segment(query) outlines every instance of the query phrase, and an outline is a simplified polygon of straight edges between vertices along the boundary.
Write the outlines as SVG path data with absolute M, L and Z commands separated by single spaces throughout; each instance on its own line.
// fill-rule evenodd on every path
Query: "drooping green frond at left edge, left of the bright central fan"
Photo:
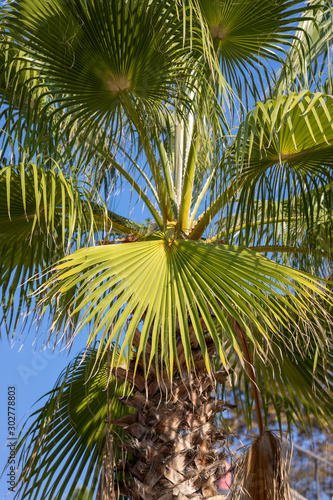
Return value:
M 106 212 L 98 197 L 91 202 L 87 187 L 58 167 L 22 163 L 0 170 L 0 288 L 8 334 L 33 306 L 30 294 L 54 259 L 105 229 Z M 29 279 L 40 272 L 36 282 Z

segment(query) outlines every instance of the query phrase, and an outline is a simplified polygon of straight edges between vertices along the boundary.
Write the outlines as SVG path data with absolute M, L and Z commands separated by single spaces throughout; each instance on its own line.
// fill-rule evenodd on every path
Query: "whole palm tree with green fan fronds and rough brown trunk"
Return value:
M 289 498 L 269 405 L 333 414 L 331 25 L 329 1 L 3 7 L 3 325 L 91 328 L 22 438 L 24 498 L 216 496 L 235 370 L 259 427 L 235 495 Z M 119 182 L 149 219 L 111 211 Z

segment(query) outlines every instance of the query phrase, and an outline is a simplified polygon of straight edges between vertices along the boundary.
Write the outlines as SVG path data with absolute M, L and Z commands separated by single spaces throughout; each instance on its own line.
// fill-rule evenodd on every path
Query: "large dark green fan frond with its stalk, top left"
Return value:
M 43 137 L 40 129 L 55 130 L 53 144 L 47 142 L 48 154 L 59 154 L 61 144 L 67 161 L 64 153 L 68 158 L 82 149 L 89 151 L 90 159 L 96 143 L 105 147 L 106 137 L 112 138 L 110 150 L 126 135 L 127 150 L 132 151 L 139 136 L 163 219 L 172 220 L 146 121 L 149 117 L 149 123 L 164 122 L 161 111 L 169 112 L 170 106 L 184 113 L 191 106 L 191 91 L 206 90 L 200 26 L 181 14 L 174 0 L 52 0 L 47 7 L 43 1 L 25 0 L 11 7 L 7 24 L 14 47 L 25 51 L 39 75 L 30 94 L 43 82 L 29 114 L 25 144 L 43 153 L 45 142 L 36 143 L 35 137 Z M 188 29 L 192 36 L 184 39 Z M 204 87 L 198 83 L 202 76 Z M 10 118 L 12 114 L 9 109 Z M 19 129 L 15 133 L 19 137 Z

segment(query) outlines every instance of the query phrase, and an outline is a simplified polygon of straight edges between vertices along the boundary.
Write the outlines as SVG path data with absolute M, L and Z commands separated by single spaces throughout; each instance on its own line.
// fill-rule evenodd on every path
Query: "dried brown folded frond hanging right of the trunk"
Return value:
M 265 431 L 239 459 L 234 476 L 236 500 L 291 500 L 288 460 L 280 440 Z

